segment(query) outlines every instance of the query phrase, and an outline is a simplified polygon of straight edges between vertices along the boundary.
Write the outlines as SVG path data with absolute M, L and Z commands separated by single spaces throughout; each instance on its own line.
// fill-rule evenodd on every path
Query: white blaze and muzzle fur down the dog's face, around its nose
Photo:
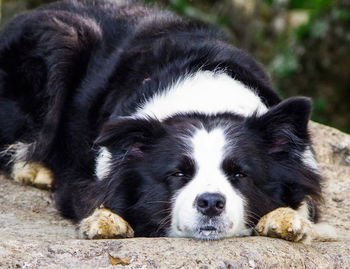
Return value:
M 174 197 L 169 235 L 201 239 L 248 235 L 250 230 L 244 223 L 244 200 L 221 168 L 227 145 L 224 130 L 214 129 L 208 133 L 200 129 L 192 137 L 192 145 L 197 172 Z M 220 193 L 226 198 L 225 210 L 216 217 L 215 223 L 201 223 L 202 214 L 196 209 L 196 197 L 206 192 Z M 201 226 L 215 224 L 221 233 L 211 235 L 209 231 L 200 232 Z

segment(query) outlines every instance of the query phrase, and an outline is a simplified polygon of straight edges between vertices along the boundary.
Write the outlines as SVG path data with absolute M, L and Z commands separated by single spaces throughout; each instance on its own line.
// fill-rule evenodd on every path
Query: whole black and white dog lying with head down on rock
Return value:
M 132 2 L 58 2 L 0 35 L 2 168 L 52 188 L 86 238 L 221 239 L 260 220 L 309 240 L 310 111 L 221 32 Z

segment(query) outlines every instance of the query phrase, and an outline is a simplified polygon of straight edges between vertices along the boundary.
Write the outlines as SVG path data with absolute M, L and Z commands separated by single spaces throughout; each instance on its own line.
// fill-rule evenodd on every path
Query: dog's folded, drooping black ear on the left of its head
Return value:
M 155 119 L 119 119 L 103 126 L 95 144 L 140 156 L 147 146 L 165 134 L 165 128 Z

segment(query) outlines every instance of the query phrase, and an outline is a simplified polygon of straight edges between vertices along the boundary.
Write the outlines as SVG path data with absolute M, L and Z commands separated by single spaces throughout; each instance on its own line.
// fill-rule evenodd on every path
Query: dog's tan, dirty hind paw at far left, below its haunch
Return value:
M 53 184 L 52 172 L 38 163 L 16 162 L 11 175 L 17 182 L 41 189 L 51 189 Z

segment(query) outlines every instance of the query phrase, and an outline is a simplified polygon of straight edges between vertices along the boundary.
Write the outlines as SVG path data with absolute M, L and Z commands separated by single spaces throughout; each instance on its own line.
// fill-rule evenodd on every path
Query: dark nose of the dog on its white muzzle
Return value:
M 208 217 L 220 215 L 225 209 L 226 199 L 220 193 L 203 193 L 196 199 L 196 207 L 199 212 Z

